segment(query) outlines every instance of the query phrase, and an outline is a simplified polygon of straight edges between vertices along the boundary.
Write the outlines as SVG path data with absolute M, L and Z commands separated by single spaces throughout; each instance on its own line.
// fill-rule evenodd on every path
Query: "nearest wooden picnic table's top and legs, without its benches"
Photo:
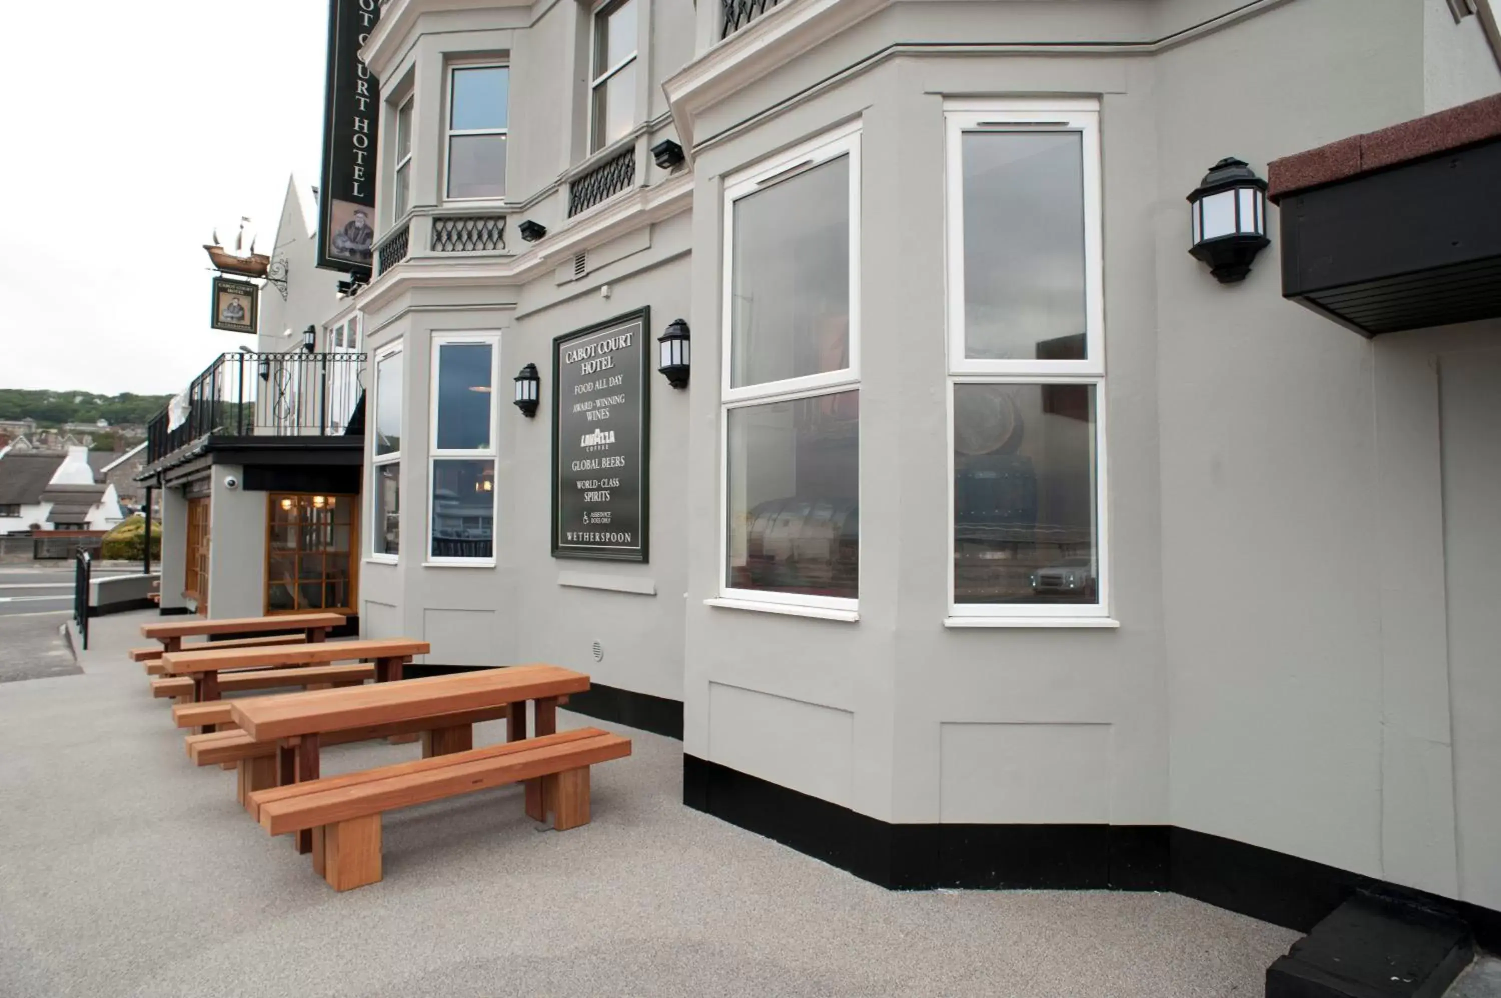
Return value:
M 281 693 L 234 701 L 231 716 L 257 741 L 276 741 L 279 786 L 318 779 L 318 738 L 323 734 L 398 722 L 414 722 L 455 711 L 509 705 L 507 741 L 527 737 L 527 701 L 536 701 L 536 734 L 557 731 L 560 696 L 582 693 L 588 675 L 557 665 L 518 665 L 504 669 L 455 672 L 401 683 Z M 432 755 L 474 747 L 474 726 L 434 728 Z M 527 794 L 540 786 L 527 783 Z M 312 836 L 299 833 L 297 849 L 312 848 Z

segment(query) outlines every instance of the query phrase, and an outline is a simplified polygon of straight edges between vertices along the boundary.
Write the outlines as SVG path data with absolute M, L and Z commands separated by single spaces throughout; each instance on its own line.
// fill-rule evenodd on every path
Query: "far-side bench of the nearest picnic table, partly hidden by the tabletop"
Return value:
M 224 704 L 221 701 L 221 704 Z M 179 710 L 203 710 L 221 704 L 191 704 Z M 228 707 L 228 704 L 224 704 Z M 474 747 L 473 725 L 486 720 L 501 720 L 510 713 L 510 705 L 491 707 L 486 710 L 464 710 L 450 714 L 438 714 L 422 720 L 404 720 L 384 725 L 366 725 L 363 728 L 348 728 L 332 731 L 324 738 L 324 744 L 347 744 L 350 741 L 374 741 L 375 738 L 399 738 L 402 735 L 422 737 L 422 758 L 449 752 L 464 752 Z M 203 722 L 212 723 L 212 722 Z M 233 723 L 233 722 L 231 722 Z M 455 737 L 455 732 L 462 732 Z M 468 734 L 468 737 L 462 737 Z M 183 738 L 188 758 L 195 765 L 231 765 L 239 770 L 236 800 L 248 804 L 246 795 L 251 791 L 276 786 L 276 741 L 257 741 L 252 735 L 239 728 L 188 735 Z

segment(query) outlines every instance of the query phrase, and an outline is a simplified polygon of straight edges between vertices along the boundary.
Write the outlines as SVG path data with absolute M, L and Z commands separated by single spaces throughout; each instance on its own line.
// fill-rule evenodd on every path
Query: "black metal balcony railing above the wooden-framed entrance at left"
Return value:
M 221 354 L 146 429 L 147 465 L 210 434 L 341 437 L 365 432 L 365 354 Z

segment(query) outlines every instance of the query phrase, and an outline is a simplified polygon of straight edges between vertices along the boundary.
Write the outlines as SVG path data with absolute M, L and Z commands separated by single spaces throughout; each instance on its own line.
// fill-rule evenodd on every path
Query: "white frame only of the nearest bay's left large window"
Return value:
M 824 374 L 812 374 L 782 381 L 732 389 L 731 381 L 731 317 L 734 309 L 734 218 L 735 201 L 766 191 L 779 182 L 802 176 L 814 167 L 841 156 L 850 158 L 850 366 Z M 823 395 L 860 392 L 860 122 L 796 146 L 772 159 L 741 170 L 725 182 L 723 194 L 723 255 L 720 272 L 720 414 L 719 414 L 719 597 L 707 600 L 714 606 L 769 609 L 835 620 L 857 620 L 860 600 L 839 596 L 808 596 L 803 593 L 773 593 L 743 590 L 728 584 L 729 573 L 729 413 L 769 402 L 794 402 Z M 862 446 L 863 452 L 863 446 Z M 856 501 L 865 488 L 859 476 Z M 860 560 L 865 557 L 865 533 L 859 540 Z M 859 575 L 856 582 L 859 591 Z

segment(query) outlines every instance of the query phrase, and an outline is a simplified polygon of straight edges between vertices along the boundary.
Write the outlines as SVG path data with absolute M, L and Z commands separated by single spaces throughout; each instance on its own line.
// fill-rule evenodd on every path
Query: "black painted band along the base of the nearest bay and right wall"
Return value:
M 1469 923 L 1501 948 L 1501 912 L 1172 825 L 890 824 L 683 755 L 683 803 L 896 890 L 1171 890 L 1300 932 L 1355 891 Z

